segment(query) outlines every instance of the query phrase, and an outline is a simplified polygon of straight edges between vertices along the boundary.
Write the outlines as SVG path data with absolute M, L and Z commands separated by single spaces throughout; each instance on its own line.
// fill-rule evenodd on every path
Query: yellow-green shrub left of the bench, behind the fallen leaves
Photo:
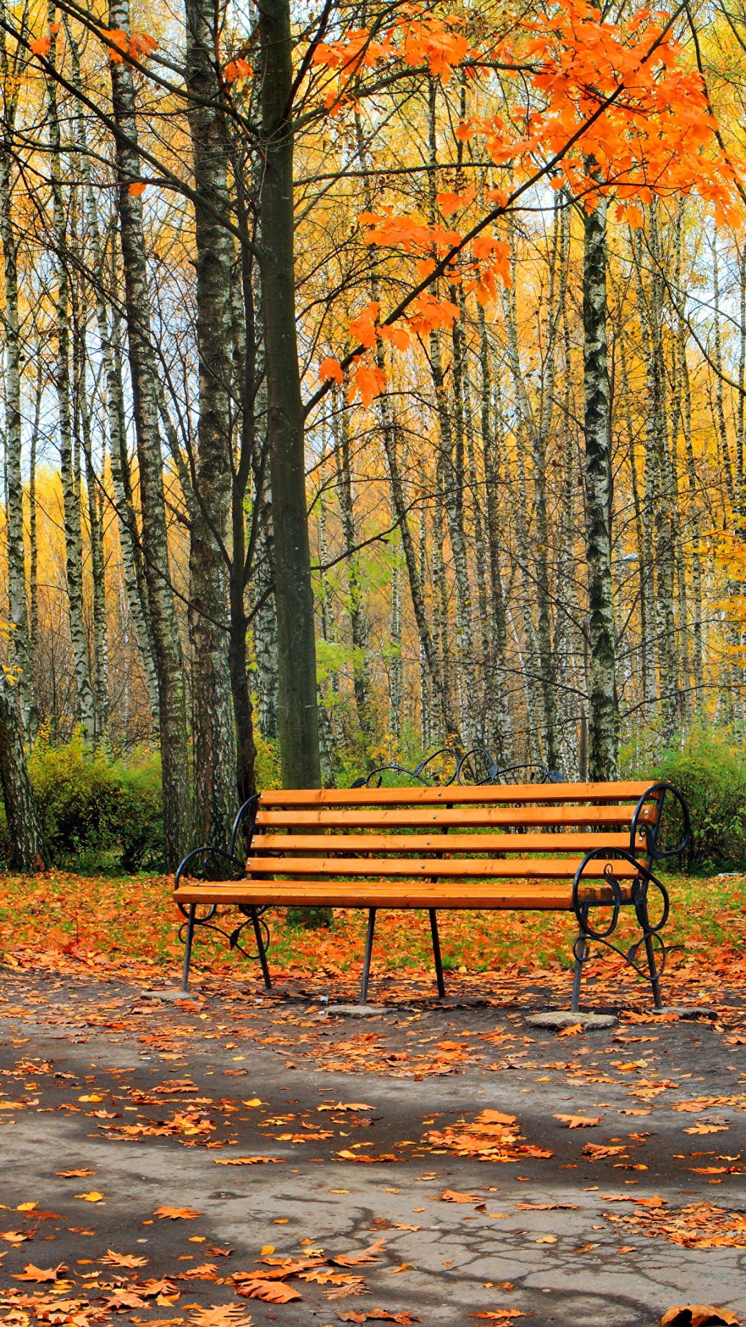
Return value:
M 44 836 L 56 865 L 92 871 L 157 869 L 163 860 L 161 760 L 125 764 L 92 755 L 76 734 L 64 746 L 38 740 L 29 775 Z

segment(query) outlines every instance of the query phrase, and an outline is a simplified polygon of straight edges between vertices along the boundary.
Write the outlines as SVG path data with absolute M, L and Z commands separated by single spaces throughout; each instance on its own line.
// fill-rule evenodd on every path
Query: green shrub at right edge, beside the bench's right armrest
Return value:
M 726 738 L 696 731 L 670 748 L 644 776 L 673 783 L 692 815 L 688 865 L 697 871 L 746 867 L 746 751 Z

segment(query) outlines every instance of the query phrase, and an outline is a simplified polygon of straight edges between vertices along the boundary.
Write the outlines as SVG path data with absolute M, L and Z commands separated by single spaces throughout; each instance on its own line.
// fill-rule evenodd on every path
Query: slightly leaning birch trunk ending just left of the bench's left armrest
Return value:
M 109 27 L 129 32 L 129 0 L 112 0 Z M 137 142 L 135 97 L 131 68 L 112 62 L 114 118 L 130 143 Z M 155 666 L 163 770 L 163 837 L 166 869 L 185 856 L 190 841 L 188 751 L 186 733 L 185 673 L 179 626 L 169 568 L 166 511 L 163 506 L 163 458 L 158 429 L 150 344 L 150 292 L 142 199 L 130 192 L 139 175 L 138 153 L 117 139 L 117 202 L 125 273 L 129 361 L 139 466 L 142 551 Z

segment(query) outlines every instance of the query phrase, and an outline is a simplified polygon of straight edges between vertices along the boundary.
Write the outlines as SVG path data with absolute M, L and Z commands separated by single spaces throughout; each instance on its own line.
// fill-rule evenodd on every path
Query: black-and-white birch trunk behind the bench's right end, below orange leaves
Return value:
M 611 411 L 607 358 L 607 200 L 583 218 L 585 549 L 591 648 L 592 782 L 616 775 L 615 621 L 611 540 Z

